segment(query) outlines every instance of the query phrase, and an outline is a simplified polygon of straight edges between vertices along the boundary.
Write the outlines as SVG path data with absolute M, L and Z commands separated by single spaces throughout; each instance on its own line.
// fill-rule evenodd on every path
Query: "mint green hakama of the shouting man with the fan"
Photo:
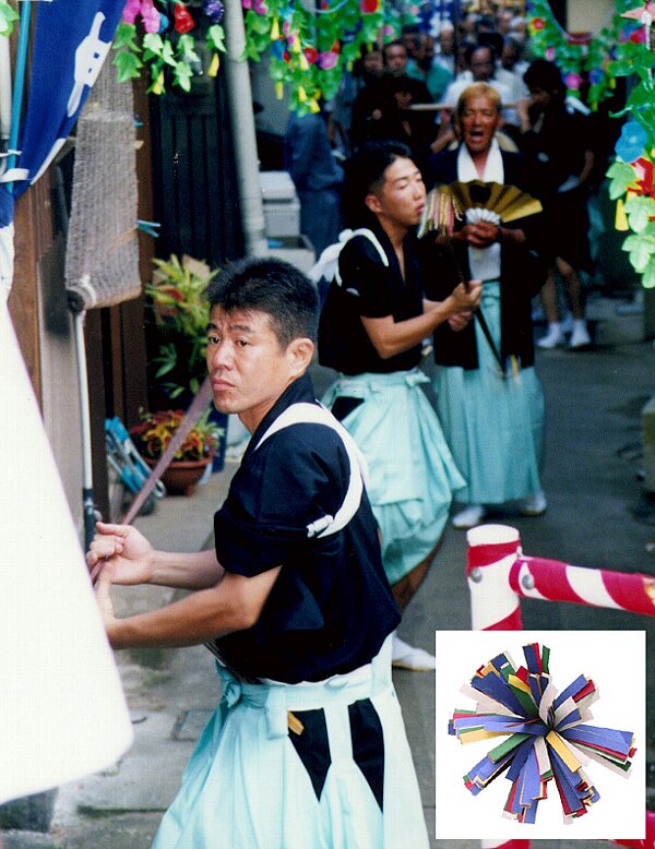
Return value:
M 486 282 L 481 309 L 500 350 L 500 284 Z M 464 504 L 504 504 L 541 490 L 544 394 L 534 368 L 507 375 L 475 323 L 479 368 L 438 367 L 437 410 L 466 487 Z

